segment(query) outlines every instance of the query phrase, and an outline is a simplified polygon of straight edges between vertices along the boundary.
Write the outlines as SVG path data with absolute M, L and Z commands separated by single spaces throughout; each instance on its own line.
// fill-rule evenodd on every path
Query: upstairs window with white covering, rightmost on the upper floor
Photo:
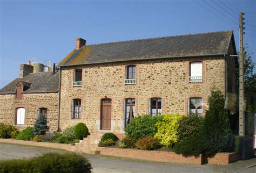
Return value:
M 190 63 L 190 83 L 203 82 L 202 62 Z

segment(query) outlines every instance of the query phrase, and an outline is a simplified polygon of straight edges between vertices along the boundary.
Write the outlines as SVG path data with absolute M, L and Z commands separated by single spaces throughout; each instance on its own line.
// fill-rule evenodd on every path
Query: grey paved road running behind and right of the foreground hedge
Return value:
M 34 148 L 20 145 L 0 143 L 0 160 L 11 158 L 28 158 L 43 153 L 58 152 L 60 150 Z M 117 158 L 85 155 L 93 167 L 93 172 L 234 172 L 256 164 L 256 158 L 247 161 L 238 161 L 229 165 L 184 165 L 156 162 L 143 162 Z M 256 167 L 241 172 L 255 172 Z

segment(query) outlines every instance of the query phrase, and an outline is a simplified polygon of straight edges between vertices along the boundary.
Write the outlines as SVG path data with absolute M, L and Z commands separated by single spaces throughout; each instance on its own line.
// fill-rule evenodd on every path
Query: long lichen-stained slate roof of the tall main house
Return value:
M 233 31 L 179 35 L 142 40 L 86 45 L 73 50 L 58 66 L 107 63 L 165 57 L 227 54 Z

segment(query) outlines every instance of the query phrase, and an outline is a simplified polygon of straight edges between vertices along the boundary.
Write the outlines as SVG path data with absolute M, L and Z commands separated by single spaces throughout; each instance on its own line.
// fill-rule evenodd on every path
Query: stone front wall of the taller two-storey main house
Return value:
M 190 62 L 203 62 L 203 82 L 189 83 Z M 124 85 L 125 66 L 136 65 L 136 85 Z M 73 70 L 82 69 L 82 86 Z M 203 116 L 212 88 L 225 93 L 225 58 L 193 57 L 62 67 L 60 128 L 84 122 L 90 132 L 124 133 L 124 99 L 136 99 L 136 116 L 149 113 L 149 99 L 161 97 L 163 113 L 187 114 L 188 98 L 203 98 Z M 71 119 L 72 99 L 82 99 L 82 117 Z M 100 129 L 100 99 L 111 98 L 111 130 Z

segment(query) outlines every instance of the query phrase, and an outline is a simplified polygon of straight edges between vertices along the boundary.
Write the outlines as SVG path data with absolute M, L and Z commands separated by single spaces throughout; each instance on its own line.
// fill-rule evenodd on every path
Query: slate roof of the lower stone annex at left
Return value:
M 10 82 L 2 89 L 0 89 L 0 94 L 4 93 L 15 93 L 16 85 L 21 81 L 22 83 L 31 83 L 29 89 L 23 91 L 23 93 L 28 92 L 57 92 L 59 89 L 59 71 L 54 75 L 52 72 L 45 73 L 31 73 L 23 78 L 16 78 L 14 81 Z

